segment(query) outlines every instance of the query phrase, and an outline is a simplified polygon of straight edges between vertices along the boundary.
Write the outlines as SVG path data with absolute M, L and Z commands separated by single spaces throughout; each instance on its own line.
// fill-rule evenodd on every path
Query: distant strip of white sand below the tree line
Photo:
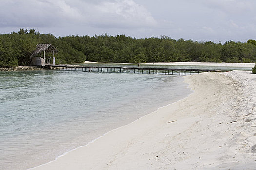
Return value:
M 84 64 L 104 64 L 92 61 L 85 61 Z M 109 63 L 113 64 L 113 63 Z M 114 63 L 116 64 L 116 63 Z M 133 63 L 118 63 L 133 64 Z M 255 63 L 206 63 L 206 62 L 161 62 L 161 63 L 140 63 L 140 65 L 173 65 L 173 66 L 222 66 L 222 67 L 248 67 L 253 68 Z

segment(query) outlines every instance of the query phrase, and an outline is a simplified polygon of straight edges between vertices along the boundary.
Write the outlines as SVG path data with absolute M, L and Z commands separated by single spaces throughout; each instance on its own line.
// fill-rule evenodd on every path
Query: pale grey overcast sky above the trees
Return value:
M 256 39 L 256 0 L 0 0 L 0 34 Z

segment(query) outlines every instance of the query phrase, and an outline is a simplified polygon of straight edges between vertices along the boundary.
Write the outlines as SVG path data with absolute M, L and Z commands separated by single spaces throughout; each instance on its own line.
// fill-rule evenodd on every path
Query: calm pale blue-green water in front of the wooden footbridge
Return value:
M 0 72 L 0 169 L 47 163 L 190 93 L 177 75 Z

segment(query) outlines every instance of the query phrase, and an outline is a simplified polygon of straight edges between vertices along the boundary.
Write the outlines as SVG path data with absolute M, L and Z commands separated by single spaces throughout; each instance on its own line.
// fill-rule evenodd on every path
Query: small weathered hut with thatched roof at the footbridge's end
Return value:
M 38 44 L 37 49 L 30 56 L 32 66 L 55 65 L 54 54 L 57 52 L 58 50 L 51 44 Z

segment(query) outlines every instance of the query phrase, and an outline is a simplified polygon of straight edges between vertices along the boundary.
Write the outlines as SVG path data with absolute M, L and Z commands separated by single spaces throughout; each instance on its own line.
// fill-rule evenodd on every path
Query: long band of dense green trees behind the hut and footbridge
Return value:
M 168 36 L 132 38 L 125 35 L 65 36 L 40 34 L 35 29 L 0 34 L 0 67 L 30 65 L 37 44 L 52 44 L 57 64 L 95 62 L 256 62 L 256 40 L 247 42 L 193 41 Z

